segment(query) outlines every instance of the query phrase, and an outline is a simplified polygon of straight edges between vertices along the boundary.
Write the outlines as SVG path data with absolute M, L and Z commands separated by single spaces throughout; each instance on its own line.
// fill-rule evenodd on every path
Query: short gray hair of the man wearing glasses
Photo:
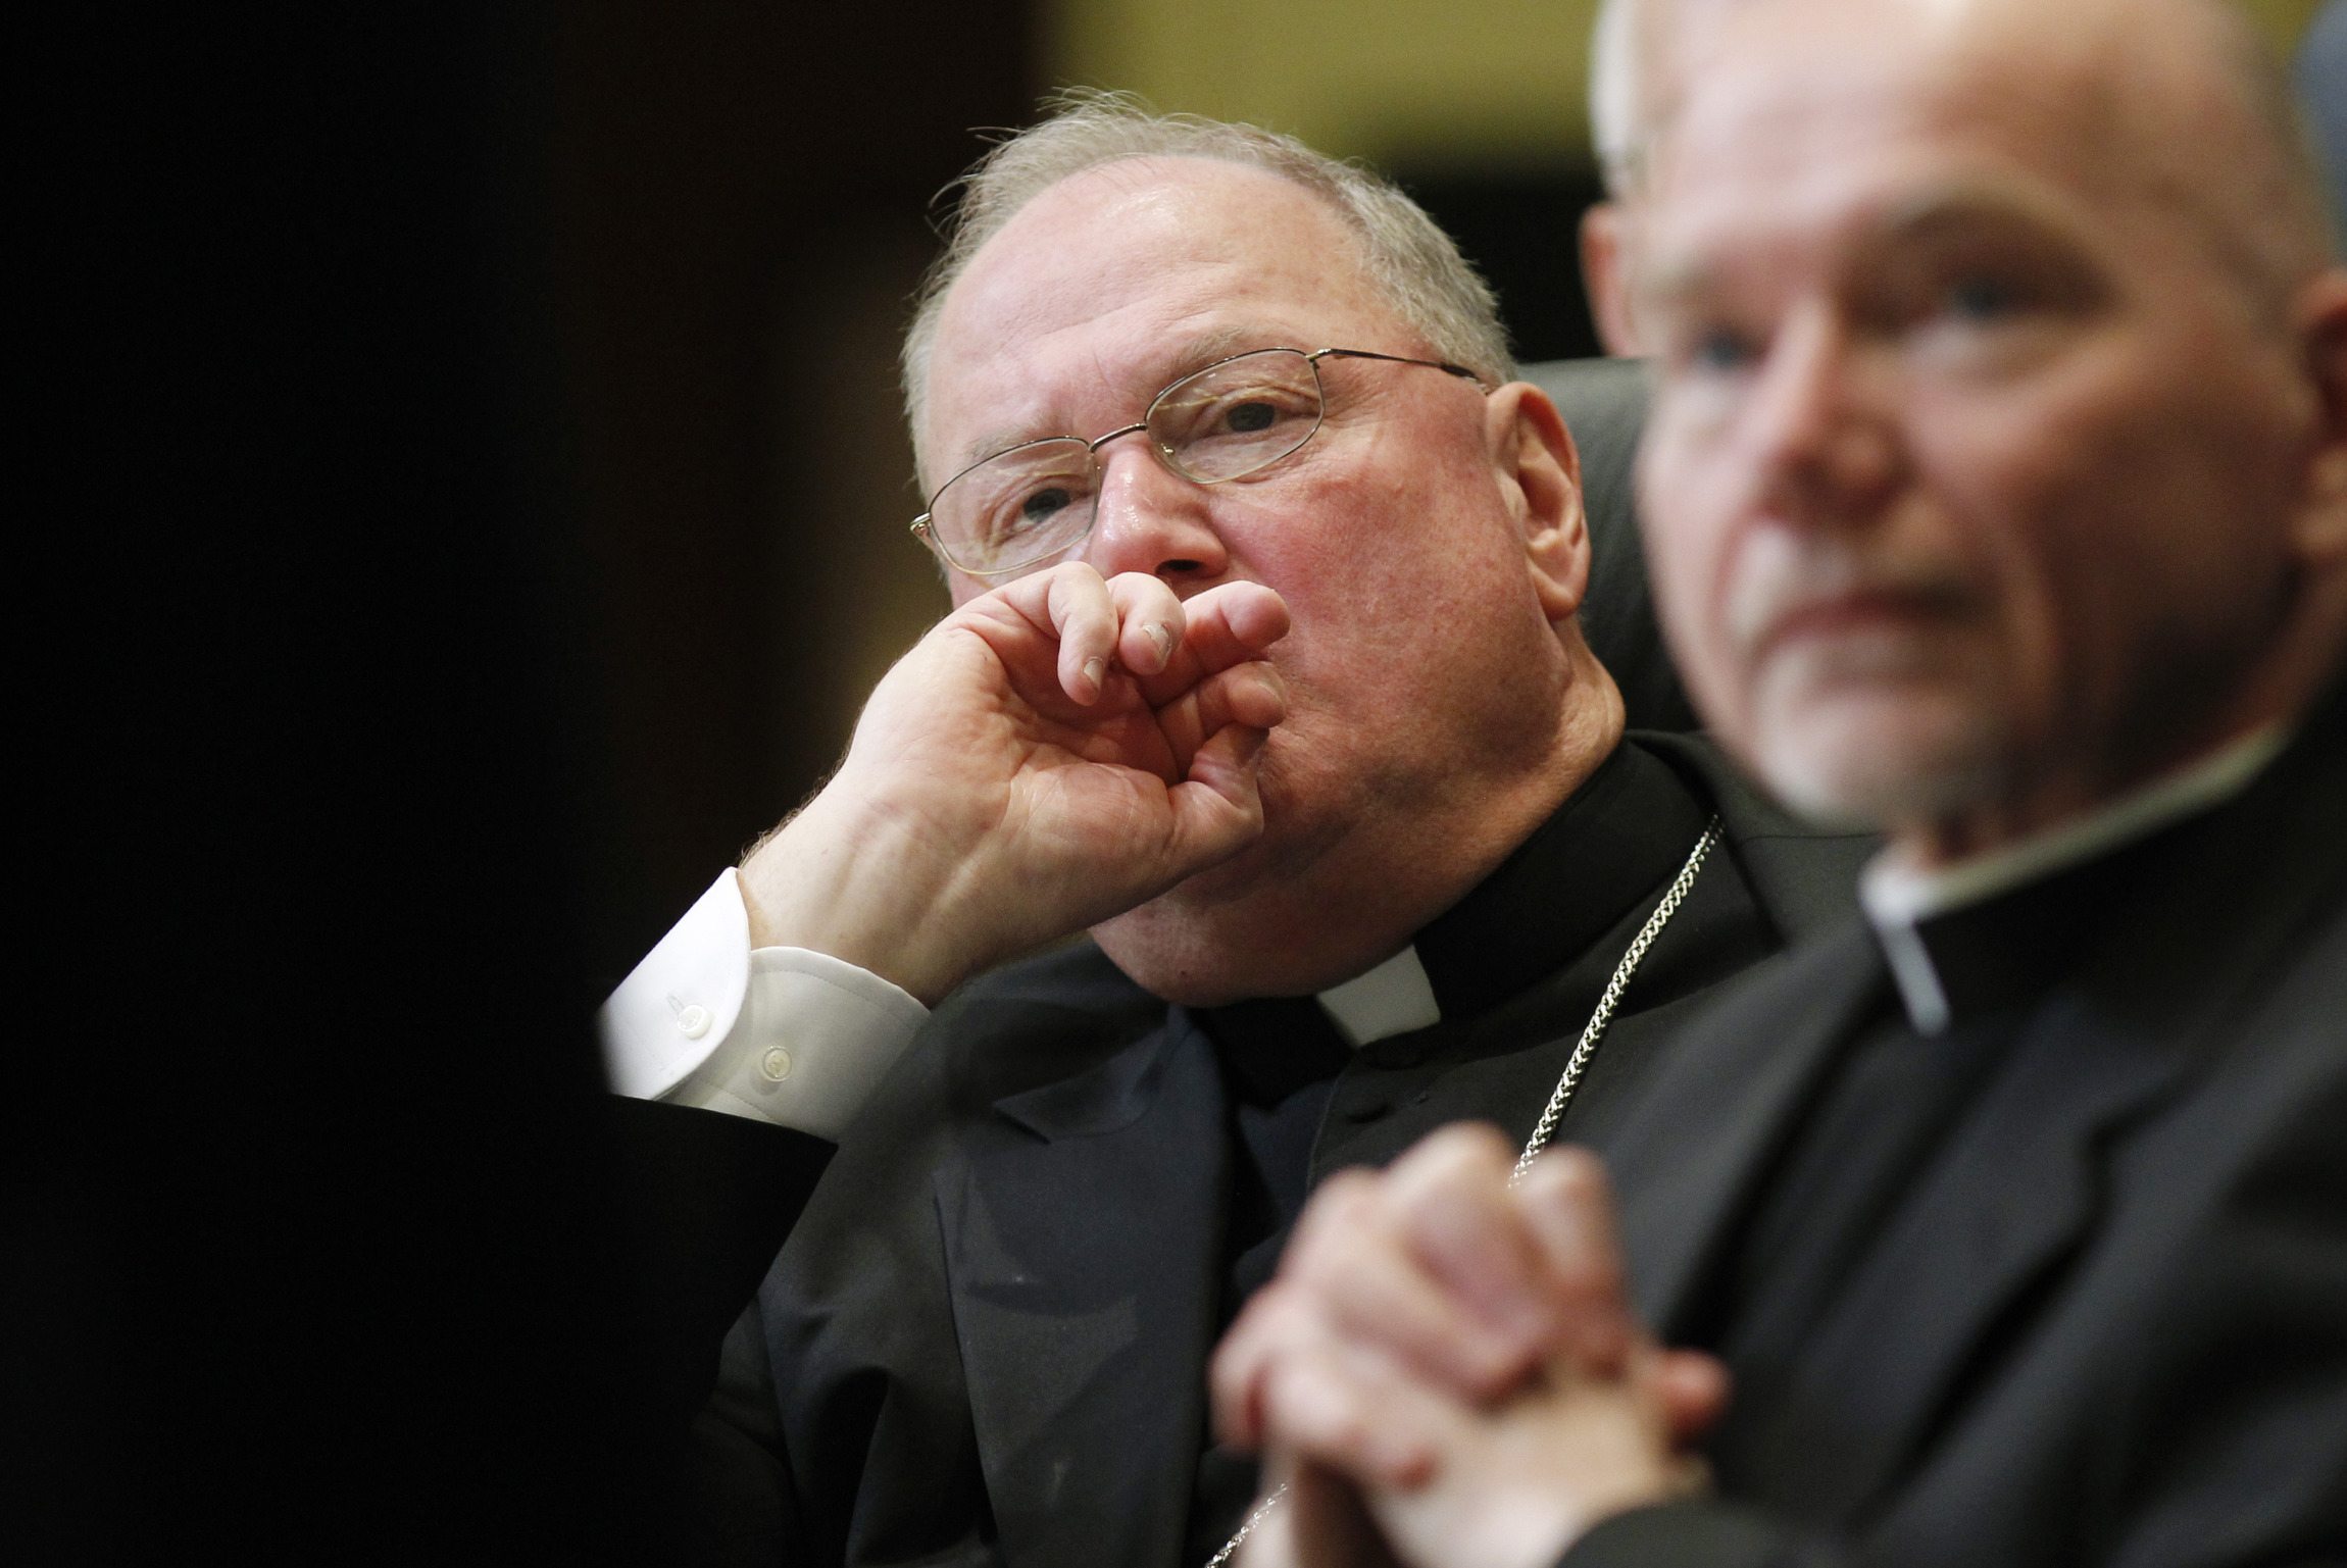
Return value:
M 1467 366 L 1493 387 L 1514 380 L 1516 364 L 1490 286 L 1460 256 L 1450 235 L 1392 181 L 1253 124 L 1152 113 L 1134 94 L 1075 89 L 1058 94 L 1051 110 L 1049 120 L 1002 141 L 960 178 L 962 200 L 946 254 L 929 268 L 904 338 L 904 406 L 915 448 L 922 439 L 936 322 L 972 256 L 1051 185 L 1129 157 L 1211 157 L 1303 185 L 1335 209 L 1359 242 L 1359 263 L 1371 286 L 1436 357 Z

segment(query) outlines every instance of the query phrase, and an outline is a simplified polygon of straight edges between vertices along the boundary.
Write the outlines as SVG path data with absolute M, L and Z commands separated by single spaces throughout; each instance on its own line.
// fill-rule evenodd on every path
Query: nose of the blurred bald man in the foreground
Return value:
M 1892 371 L 1831 307 L 1795 312 L 1770 345 L 1749 437 L 1763 505 L 1805 528 L 1864 528 L 1899 491 Z

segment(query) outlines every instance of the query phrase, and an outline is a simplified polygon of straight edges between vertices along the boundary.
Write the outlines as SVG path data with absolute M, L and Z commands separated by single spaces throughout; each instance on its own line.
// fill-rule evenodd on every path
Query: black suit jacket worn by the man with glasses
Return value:
M 1720 812 L 1725 843 L 1563 1136 L 1601 1122 L 1720 981 L 1845 913 L 1871 847 L 1793 824 L 1702 742 L 1636 744 Z M 1314 1181 L 1460 1117 L 1523 1138 L 1659 892 L 1523 995 L 1364 1047 Z M 1197 1019 L 1089 944 L 939 1007 L 728 1343 L 704 1427 L 730 1455 L 718 1502 L 782 1521 L 744 1526 L 744 1556 L 1174 1568 L 1220 1322 L 1227 1117 Z

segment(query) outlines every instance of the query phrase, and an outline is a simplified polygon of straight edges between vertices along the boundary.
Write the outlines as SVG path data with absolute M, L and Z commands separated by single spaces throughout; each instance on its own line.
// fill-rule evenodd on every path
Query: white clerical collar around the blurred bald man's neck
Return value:
M 2267 725 L 2084 817 L 1953 866 L 1922 869 L 1896 847 L 1871 859 L 1859 876 L 1859 904 L 1882 941 L 1915 1033 L 1936 1035 L 1948 1028 L 1948 995 L 1915 932 L 1920 920 L 1983 904 L 2230 800 L 2265 772 L 2288 739 L 2286 725 Z

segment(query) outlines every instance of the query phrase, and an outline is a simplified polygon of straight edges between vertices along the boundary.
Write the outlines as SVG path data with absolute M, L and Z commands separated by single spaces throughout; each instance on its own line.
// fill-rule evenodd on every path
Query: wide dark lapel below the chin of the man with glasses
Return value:
M 1227 1185 L 1211 1052 L 1169 1023 L 995 1110 L 934 1190 L 1002 1554 L 1171 1568 Z

